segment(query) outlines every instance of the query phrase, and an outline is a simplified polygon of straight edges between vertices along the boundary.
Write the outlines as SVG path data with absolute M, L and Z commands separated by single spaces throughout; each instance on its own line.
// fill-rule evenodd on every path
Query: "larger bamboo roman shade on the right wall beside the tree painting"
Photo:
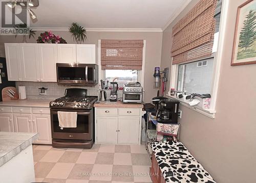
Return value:
M 210 56 L 217 0 L 201 0 L 173 27 L 173 64 Z

